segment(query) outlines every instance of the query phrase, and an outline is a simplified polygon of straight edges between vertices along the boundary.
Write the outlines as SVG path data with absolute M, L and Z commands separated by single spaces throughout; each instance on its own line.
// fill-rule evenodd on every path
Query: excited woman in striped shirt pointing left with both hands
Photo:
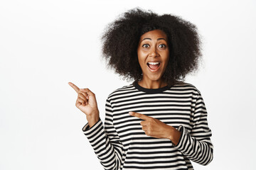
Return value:
M 178 16 L 132 9 L 102 37 L 110 67 L 132 84 L 106 101 L 105 125 L 95 94 L 78 93 L 82 128 L 105 169 L 193 169 L 213 159 L 207 111 L 200 91 L 183 78 L 201 57 L 196 26 Z

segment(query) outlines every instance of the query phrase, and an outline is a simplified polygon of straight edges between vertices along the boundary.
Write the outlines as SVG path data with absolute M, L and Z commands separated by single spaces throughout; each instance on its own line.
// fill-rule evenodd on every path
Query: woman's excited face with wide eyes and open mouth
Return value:
M 151 30 L 141 36 L 137 49 L 144 80 L 159 81 L 169 62 L 167 36 L 162 30 Z

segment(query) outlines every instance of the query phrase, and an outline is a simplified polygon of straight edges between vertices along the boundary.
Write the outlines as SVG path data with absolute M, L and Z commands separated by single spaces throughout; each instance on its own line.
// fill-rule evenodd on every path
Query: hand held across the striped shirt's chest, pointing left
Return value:
M 171 140 L 174 145 L 178 144 L 181 132 L 176 130 L 176 128 L 141 113 L 129 112 L 129 114 L 144 120 L 140 124 L 146 135 L 156 138 L 166 138 Z

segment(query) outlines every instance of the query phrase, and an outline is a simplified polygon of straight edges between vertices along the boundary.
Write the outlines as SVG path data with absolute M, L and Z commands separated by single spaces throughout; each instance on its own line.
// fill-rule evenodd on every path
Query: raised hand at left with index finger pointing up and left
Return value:
M 79 89 L 75 84 L 68 82 L 68 84 L 77 92 L 78 99 L 75 106 L 85 113 L 90 127 L 95 125 L 100 120 L 100 113 L 97 108 L 97 101 L 95 94 L 89 89 Z

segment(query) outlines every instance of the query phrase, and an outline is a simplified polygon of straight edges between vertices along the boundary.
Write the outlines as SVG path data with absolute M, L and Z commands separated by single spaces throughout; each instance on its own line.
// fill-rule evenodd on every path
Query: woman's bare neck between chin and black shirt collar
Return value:
M 143 79 L 141 81 L 138 81 L 139 86 L 142 86 L 146 89 L 159 89 L 161 87 L 167 86 L 166 81 L 163 79 L 159 80 L 146 80 Z

